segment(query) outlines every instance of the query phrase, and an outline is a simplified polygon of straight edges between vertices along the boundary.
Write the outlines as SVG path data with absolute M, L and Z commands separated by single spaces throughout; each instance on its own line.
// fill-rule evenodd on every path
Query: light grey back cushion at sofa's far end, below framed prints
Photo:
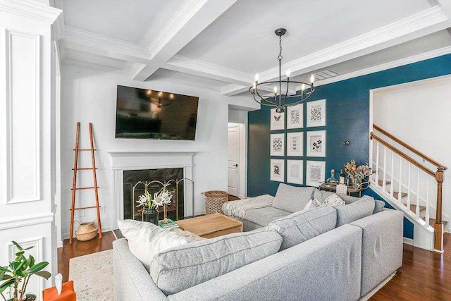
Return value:
M 314 187 L 295 187 L 280 183 L 273 207 L 290 212 L 300 211 L 304 209 L 315 190 Z

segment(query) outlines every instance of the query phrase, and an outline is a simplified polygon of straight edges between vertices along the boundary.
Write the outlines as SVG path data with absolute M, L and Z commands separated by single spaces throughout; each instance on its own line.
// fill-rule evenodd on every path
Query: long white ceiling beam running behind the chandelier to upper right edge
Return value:
M 430 35 L 433 32 L 444 30 L 450 25 L 450 18 L 447 18 L 443 8 L 434 6 L 359 37 L 349 39 L 295 61 L 284 63 L 282 69 L 290 68 L 291 77 L 311 73 L 314 70 L 326 68 L 336 63 L 342 63 L 343 61 L 355 59 L 418 37 Z M 276 80 L 277 78 L 278 67 L 260 73 L 261 81 Z M 233 90 L 234 88 L 236 89 L 235 91 Z M 297 87 L 297 90 L 300 90 L 300 87 Z M 229 96 L 243 92 L 240 85 L 228 85 L 221 91 Z

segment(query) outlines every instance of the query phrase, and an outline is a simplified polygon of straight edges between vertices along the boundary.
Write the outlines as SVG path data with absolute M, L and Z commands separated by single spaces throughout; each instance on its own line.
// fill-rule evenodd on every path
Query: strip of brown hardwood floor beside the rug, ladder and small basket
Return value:
M 96 238 L 88 241 L 78 241 L 74 238 L 72 245 L 69 244 L 69 240 L 63 241 L 63 247 L 58 248 L 58 272 L 63 275 L 63 282 L 68 281 L 69 278 L 70 258 L 113 249 L 113 241 L 116 240 L 113 232 L 104 232 L 101 236 L 101 239 L 97 235 Z

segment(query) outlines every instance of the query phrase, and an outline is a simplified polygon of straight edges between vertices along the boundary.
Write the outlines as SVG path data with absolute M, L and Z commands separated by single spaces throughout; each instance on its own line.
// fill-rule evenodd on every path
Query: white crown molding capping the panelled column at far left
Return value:
M 52 24 L 63 12 L 38 1 L 0 0 L 0 11 Z

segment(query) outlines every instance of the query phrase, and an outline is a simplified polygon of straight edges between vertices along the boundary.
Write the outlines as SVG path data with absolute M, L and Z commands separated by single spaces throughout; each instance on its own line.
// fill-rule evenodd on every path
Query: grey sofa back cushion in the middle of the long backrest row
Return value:
M 335 228 L 337 211 L 333 207 L 319 207 L 297 211 L 269 223 L 267 229 L 283 237 L 280 251 L 314 238 Z

